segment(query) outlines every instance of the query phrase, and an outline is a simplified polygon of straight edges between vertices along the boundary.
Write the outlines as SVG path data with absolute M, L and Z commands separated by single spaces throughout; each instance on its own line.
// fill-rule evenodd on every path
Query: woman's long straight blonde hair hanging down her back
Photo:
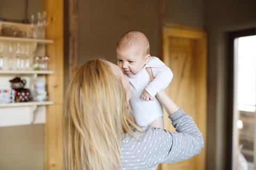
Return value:
M 134 136 L 122 82 L 107 62 L 84 63 L 74 74 L 63 107 L 63 168 L 118 169 L 124 133 Z

